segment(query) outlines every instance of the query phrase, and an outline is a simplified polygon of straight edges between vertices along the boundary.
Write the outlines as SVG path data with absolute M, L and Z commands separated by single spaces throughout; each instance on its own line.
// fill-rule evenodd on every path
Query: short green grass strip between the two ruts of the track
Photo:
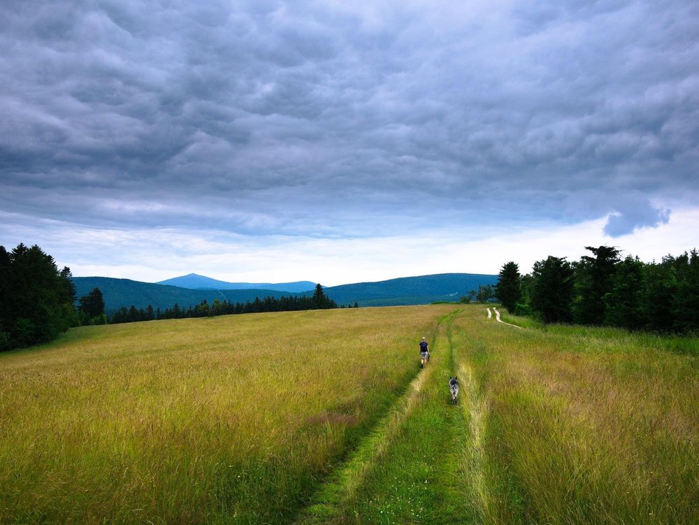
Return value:
M 453 368 L 453 318 L 444 319 L 431 342 L 431 362 L 414 410 L 371 466 L 361 490 L 329 523 L 446 524 L 473 517 L 468 487 L 459 475 L 466 424 L 461 409 L 449 403 L 447 387 Z

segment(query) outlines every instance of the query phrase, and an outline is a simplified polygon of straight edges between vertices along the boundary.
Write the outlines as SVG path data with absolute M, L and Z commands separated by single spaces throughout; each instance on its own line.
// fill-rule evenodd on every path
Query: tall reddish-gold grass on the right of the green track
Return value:
M 696 523 L 697 357 L 618 329 L 459 323 L 488 407 L 485 522 Z

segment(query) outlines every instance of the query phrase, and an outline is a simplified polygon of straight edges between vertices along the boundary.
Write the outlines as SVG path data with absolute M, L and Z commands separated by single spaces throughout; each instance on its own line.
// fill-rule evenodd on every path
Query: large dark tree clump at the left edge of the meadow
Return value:
M 0 246 L 0 350 L 50 341 L 76 324 L 70 278 L 36 245 Z

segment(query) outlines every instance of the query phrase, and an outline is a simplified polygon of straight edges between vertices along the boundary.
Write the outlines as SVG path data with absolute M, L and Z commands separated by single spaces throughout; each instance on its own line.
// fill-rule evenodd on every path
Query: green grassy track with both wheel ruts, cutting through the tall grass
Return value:
M 440 319 L 431 363 L 317 492 L 298 524 L 476 521 L 468 411 L 450 403 L 448 389 L 454 375 L 452 322 L 459 313 Z

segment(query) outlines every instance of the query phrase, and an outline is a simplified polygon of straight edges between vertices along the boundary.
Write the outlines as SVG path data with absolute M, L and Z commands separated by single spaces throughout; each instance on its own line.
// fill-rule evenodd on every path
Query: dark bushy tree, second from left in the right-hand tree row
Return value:
M 531 307 L 540 312 L 545 323 L 569 322 L 572 319 L 574 275 L 565 257 L 549 255 L 544 261 L 534 263 Z

